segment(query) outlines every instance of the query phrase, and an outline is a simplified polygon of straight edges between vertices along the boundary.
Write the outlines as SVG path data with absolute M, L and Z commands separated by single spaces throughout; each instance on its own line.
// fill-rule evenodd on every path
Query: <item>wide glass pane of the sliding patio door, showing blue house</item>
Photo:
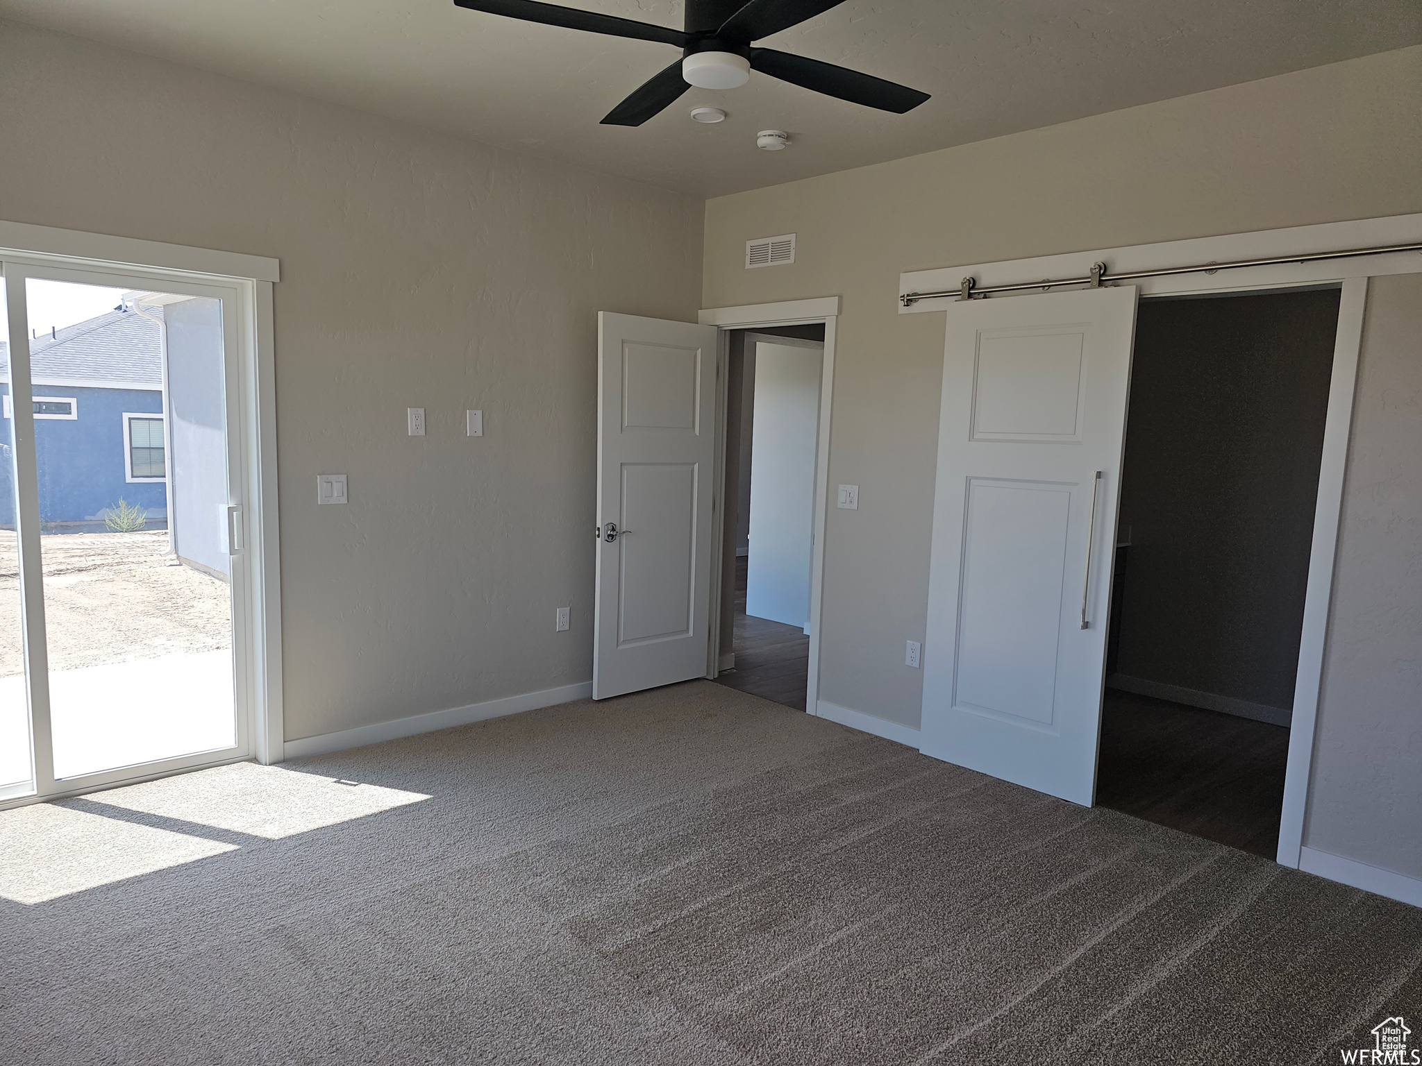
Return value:
M 233 748 L 222 301 L 26 291 L 54 776 Z

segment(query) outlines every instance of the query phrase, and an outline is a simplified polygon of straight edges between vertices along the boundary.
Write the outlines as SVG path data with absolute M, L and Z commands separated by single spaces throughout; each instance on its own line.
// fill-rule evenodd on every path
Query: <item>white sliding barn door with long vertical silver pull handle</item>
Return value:
M 1136 289 L 947 311 L 921 749 L 1091 804 Z

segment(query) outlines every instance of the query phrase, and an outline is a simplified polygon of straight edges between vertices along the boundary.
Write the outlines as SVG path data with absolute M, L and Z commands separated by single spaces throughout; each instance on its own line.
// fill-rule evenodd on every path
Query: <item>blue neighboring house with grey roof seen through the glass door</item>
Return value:
M 125 303 L 125 308 L 131 304 Z M 164 307 L 145 307 L 162 318 Z M 104 529 L 119 499 L 168 520 L 162 327 L 114 310 L 30 341 L 40 520 Z M 0 343 L 3 443 L 11 443 L 10 352 Z M 0 462 L 0 524 L 14 527 L 13 463 Z

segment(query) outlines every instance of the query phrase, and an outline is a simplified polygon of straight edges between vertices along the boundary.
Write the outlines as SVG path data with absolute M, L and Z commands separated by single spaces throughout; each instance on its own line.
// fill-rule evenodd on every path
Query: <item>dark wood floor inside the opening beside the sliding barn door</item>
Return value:
M 1106 689 L 1096 803 L 1273 858 L 1288 729 Z

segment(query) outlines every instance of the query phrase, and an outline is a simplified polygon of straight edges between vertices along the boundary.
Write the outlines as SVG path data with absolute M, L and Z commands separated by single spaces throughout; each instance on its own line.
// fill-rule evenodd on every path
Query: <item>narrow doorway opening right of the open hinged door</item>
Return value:
M 806 709 L 825 325 L 732 330 L 727 345 L 717 681 Z

